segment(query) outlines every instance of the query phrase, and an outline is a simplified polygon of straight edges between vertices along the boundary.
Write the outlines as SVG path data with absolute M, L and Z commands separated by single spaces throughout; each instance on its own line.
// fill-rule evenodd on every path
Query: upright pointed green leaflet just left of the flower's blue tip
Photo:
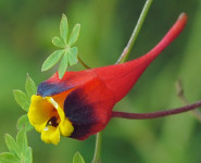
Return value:
M 28 74 L 26 77 L 25 89 L 29 98 L 37 92 L 37 87 Z

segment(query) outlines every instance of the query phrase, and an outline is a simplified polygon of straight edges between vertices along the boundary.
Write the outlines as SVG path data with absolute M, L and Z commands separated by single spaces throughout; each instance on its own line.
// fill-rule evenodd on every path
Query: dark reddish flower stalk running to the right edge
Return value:
M 188 104 L 183 108 L 171 109 L 166 111 L 159 111 L 152 113 L 125 113 L 125 112 L 112 112 L 112 117 L 131 118 L 131 120 L 145 120 L 145 118 L 156 118 L 168 115 L 174 115 L 183 112 L 188 112 L 201 106 L 201 101 L 193 104 Z

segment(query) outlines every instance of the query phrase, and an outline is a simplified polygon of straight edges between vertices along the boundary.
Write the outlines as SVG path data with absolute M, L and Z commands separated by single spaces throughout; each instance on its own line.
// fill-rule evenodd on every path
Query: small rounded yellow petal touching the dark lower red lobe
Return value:
M 72 123 L 67 118 L 65 118 L 63 122 L 60 122 L 59 127 L 61 135 L 66 137 L 71 136 L 74 130 Z

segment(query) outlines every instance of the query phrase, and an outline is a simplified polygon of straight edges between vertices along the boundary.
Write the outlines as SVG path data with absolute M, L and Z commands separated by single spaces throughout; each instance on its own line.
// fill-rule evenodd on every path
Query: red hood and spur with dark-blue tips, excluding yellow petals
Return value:
M 139 59 L 66 72 L 62 79 L 55 73 L 38 86 L 38 96 L 51 97 L 60 104 L 73 126 L 71 138 L 86 139 L 106 126 L 114 104 L 128 93 L 148 65 L 180 34 L 186 22 L 187 15 L 181 14 L 164 38 Z

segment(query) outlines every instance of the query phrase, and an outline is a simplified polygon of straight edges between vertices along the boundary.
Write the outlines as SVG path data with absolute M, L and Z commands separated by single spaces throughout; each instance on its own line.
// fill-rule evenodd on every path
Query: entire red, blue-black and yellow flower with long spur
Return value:
M 147 54 L 136 60 L 66 72 L 62 79 L 55 73 L 39 84 L 28 111 L 30 124 L 41 139 L 56 145 L 60 136 L 79 140 L 104 129 L 112 109 L 124 98 L 148 65 L 180 34 L 187 22 L 181 14 L 163 39 Z

